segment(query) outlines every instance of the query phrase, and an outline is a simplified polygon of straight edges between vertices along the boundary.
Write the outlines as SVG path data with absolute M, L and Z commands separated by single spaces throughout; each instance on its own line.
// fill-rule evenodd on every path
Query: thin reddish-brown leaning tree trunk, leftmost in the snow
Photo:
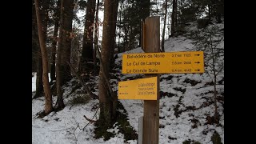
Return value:
M 38 6 L 38 0 L 35 0 L 35 9 L 37 14 L 37 22 L 38 22 L 38 37 L 39 37 L 39 43 L 42 53 L 42 82 L 43 82 L 43 89 L 45 93 L 46 98 L 46 104 L 45 104 L 45 114 L 50 114 L 50 112 L 53 110 L 52 106 L 52 95 L 50 91 L 50 85 L 49 85 L 49 78 L 48 78 L 48 58 L 46 53 L 46 41 L 43 36 L 42 32 L 42 19 L 39 13 L 39 6 Z

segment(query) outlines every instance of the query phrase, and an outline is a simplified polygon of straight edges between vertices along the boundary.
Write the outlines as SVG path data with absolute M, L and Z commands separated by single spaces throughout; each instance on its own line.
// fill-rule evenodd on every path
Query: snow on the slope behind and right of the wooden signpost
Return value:
M 223 25 L 219 25 L 223 28 Z M 194 26 L 193 26 L 194 28 Z M 169 38 L 165 42 L 166 52 L 172 51 L 194 51 L 194 45 L 192 40 L 178 36 L 177 38 Z M 220 43 L 224 48 L 224 42 Z M 116 59 L 117 64 L 122 63 L 122 54 L 143 53 L 141 48 L 126 51 L 118 54 Z M 121 74 L 121 80 L 128 77 L 131 74 Z M 133 74 L 133 76 L 138 74 Z M 168 79 L 172 76 L 171 80 Z M 129 76 L 130 77 L 130 76 Z M 206 99 L 202 98 L 202 95 L 206 98 L 214 101 L 213 94 L 206 94 L 210 90 L 214 90 L 214 86 L 207 86 L 207 82 L 212 82 L 213 78 L 210 78 L 209 74 L 162 74 L 162 81 L 160 82 L 160 91 L 174 94 L 173 97 L 160 96 L 160 129 L 159 129 L 159 143 L 174 143 L 181 144 L 186 140 L 194 140 L 194 142 L 201 142 L 211 144 L 211 136 L 214 134 L 214 130 L 220 134 L 222 143 L 224 143 L 224 107 L 221 103 L 218 105 L 218 113 L 221 115 L 219 123 L 222 126 L 205 125 L 206 115 L 214 115 L 214 104 L 210 106 L 202 107 L 203 104 L 207 104 Z M 191 86 L 190 83 L 184 82 L 186 78 L 197 81 L 198 84 Z M 223 74 L 218 75 L 218 80 L 224 78 Z M 175 90 L 176 88 L 176 90 Z M 177 90 L 185 90 L 184 93 Z M 217 90 L 223 92 L 224 85 L 217 85 Z M 174 115 L 174 108 L 178 105 L 178 101 L 181 98 L 181 105 L 178 110 L 186 110 L 186 106 L 192 106 L 198 110 L 186 110 L 183 111 L 178 118 Z M 141 100 L 120 100 L 122 105 L 126 108 L 129 116 L 129 122 L 134 129 L 138 131 L 138 118 L 143 116 L 143 101 Z M 200 108 L 200 109 L 199 109 Z M 192 122 L 193 121 L 193 122 Z M 192 128 L 192 126 L 195 128 Z

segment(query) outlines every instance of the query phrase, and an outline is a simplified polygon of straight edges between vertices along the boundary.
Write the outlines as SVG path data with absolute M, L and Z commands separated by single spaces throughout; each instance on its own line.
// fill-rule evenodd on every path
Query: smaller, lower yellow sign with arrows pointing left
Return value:
M 118 82 L 118 99 L 157 100 L 157 77 Z

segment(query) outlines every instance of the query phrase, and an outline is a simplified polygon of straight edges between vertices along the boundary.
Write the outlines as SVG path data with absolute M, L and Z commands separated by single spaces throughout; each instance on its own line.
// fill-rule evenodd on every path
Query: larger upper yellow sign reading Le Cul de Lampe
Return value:
M 204 73 L 203 51 L 122 54 L 122 74 Z

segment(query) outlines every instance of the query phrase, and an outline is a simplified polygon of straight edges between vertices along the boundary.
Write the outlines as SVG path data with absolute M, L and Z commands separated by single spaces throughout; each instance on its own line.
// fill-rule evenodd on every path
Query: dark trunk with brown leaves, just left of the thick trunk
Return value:
M 96 0 L 88 0 L 86 5 L 86 22 L 82 40 L 82 56 L 80 61 L 80 73 L 91 70 L 88 62 L 93 62 L 93 32 L 94 32 L 94 13 Z

